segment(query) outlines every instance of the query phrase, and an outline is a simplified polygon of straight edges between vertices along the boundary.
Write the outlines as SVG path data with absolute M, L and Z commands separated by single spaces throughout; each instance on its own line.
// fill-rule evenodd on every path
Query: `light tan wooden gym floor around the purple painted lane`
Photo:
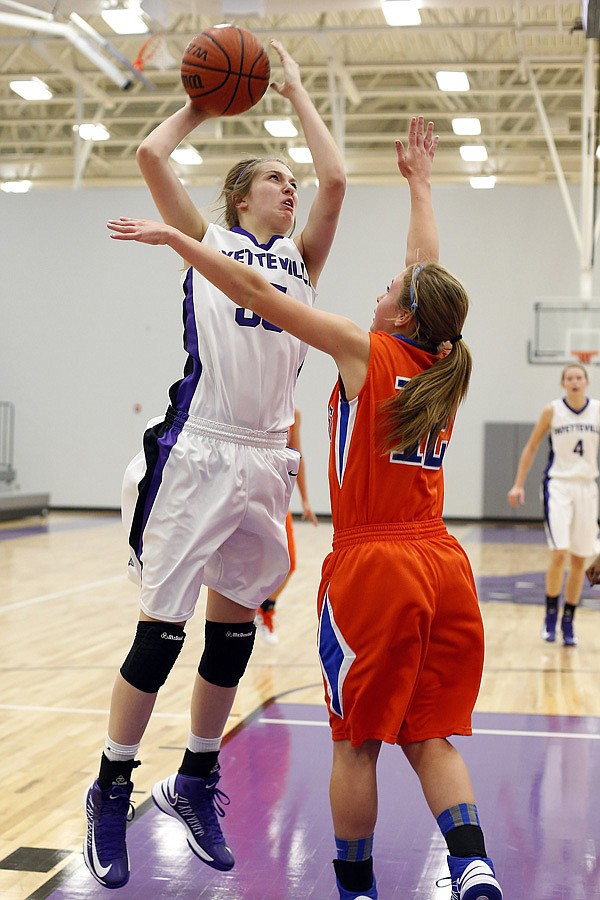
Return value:
M 449 529 L 471 559 L 486 625 L 479 721 L 487 722 L 488 714 L 558 717 L 554 721 L 562 724 L 562 717 L 600 717 L 600 589 L 584 591 L 576 617 L 579 646 L 546 644 L 539 637 L 547 562 L 541 526 L 450 522 Z M 269 645 L 257 636 L 228 730 L 250 720 L 273 698 L 294 704 L 294 709 L 305 705 L 312 710 L 309 718 L 321 715 L 314 600 L 321 561 L 331 544 L 331 526 L 327 521 L 318 528 L 296 522 L 295 534 L 298 568 L 278 603 L 279 643 Z M 113 678 L 129 648 L 138 614 L 137 591 L 124 574 L 126 560 L 120 520 L 113 514 L 53 512 L 46 519 L 0 525 L 0 897 L 4 900 L 51 896 L 48 885 L 60 883 L 61 871 L 79 866 L 82 797 L 97 771 Z M 143 765 L 136 772 L 138 807 L 148 799 L 154 781 L 179 764 L 188 730 L 188 698 L 201 653 L 202 611 L 201 598 L 142 744 Z M 234 737 L 228 746 L 237 740 Z M 549 739 L 539 737 L 537 744 L 543 740 Z M 595 743 L 597 754 L 600 742 Z M 326 779 L 329 758 L 321 764 Z M 588 787 L 589 792 L 596 790 L 595 784 Z M 325 796 L 322 809 L 329 831 Z M 589 846 L 582 846 L 582 860 L 589 861 L 590 852 Z M 330 859 L 330 847 L 327 853 Z M 129 886 L 123 892 L 128 890 Z M 95 897 L 98 891 L 106 895 L 90 878 L 89 892 L 70 893 L 67 886 L 55 896 Z M 123 892 L 120 896 L 125 897 Z M 152 900 L 152 895 L 145 896 Z M 227 892 L 194 896 L 259 897 Z M 268 896 L 286 900 L 309 892 L 282 889 Z M 322 900 L 318 893 L 310 896 Z M 395 892 L 393 896 L 404 897 Z M 514 892 L 506 900 L 550 896 L 571 900 L 566 888 L 546 896 L 519 897 Z M 581 896 L 600 894 L 594 890 Z

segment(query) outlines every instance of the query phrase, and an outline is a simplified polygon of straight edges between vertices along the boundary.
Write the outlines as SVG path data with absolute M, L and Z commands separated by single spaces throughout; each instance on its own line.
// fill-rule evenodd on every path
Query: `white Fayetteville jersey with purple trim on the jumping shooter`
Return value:
M 312 306 L 315 290 L 290 238 L 267 244 L 241 228 L 210 225 L 203 239 L 260 272 L 284 294 Z M 183 278 L 183 378 L 171 404 L 192 416 L 254 431 L 286 431 L 294 421 L 294 387 L 307 345 L 236 306 L 195 269 Z

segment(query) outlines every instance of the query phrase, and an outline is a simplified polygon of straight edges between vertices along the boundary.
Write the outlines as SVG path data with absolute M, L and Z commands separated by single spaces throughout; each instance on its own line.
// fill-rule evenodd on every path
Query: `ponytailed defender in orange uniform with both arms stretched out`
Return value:
M 411 212 L 406 266 L 377 298 L 371 332 L 308 309 L 245 267 L 144 220 L 117 239 L 168 244 L 236 302 L 329 353 L 333 551 L 319 590 L 319 653 L 334 740 L 330 800 L 342 900 L 377 898 L 373 832 L 381 742 L 399 744 L 446 839 L 453 900 L 501 900 L 471 780 L 448 740 L 471 733 L 483 626 L 466 554 L 442 521 L 442 461 L 471 356 L 468 298 L 437 262 L 433 124 L 396 143 Z

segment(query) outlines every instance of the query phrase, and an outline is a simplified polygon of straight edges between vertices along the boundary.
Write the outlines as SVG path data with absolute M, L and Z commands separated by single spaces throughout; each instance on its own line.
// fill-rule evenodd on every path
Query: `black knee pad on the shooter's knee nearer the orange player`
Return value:
M 236 687 L 252 655 L 254 622 L 206 622 L 198 672 L 218 687 Z

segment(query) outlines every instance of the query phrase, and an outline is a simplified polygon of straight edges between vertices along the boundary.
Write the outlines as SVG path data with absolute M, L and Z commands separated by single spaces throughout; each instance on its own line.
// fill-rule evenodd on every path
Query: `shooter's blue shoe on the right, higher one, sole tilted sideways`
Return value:
M 227 872 L 235 860 L 219 825 L 223 806 L 229 806 L 229 797 L 217 788 L 220 777 L 218 771 L 208 778 L 176 773 L 154 785 L 152 799 L 185 827 L 190 849 L 202 862 Z

